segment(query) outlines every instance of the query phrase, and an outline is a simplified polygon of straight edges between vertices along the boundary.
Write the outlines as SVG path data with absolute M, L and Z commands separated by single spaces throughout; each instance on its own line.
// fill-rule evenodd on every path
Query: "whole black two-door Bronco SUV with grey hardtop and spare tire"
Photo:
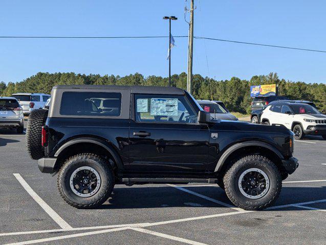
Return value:
M 71 206 L 104 203 L 115 184 L 217 183 L 231 202 L 264 209 L 298 167 L 293 133 L 277 126 L 210 120 L 175 87 L 59 85 L 49 110 L 28 119 L 27 151 L 58 172 Z

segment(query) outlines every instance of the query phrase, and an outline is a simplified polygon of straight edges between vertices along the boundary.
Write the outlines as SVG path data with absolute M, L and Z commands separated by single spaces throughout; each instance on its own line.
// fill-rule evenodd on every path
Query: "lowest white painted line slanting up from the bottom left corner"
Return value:
M 26 244 L 34 244 L 34 243 L 48 242 L 48 241 L 56 241 L 56 240 L 74 238 L 74 237 L 97 235 L 97 234 L 109 233 L 109 232 L 113 232 L 113 231 L 122 231 L 122 230 L 127 230 L 127 229 L 128 229 L 128 227 L 120 227 L 120 228 L 108 229 L 108 230 L 90 231 L 90 232 L 77 233 L 77 234 L 71 234 L 71 235 L 55 236 L 55 237 L 49 237 L 49 238 L 41 238 L 41 239 L 35 239 L 35 240 L 28 240 L 28 241 L 20 241 L 20 242 L 14 242 L 14 243 L 7 243 L 7 244 L 4 244 L 4 245 L 26 245 Z

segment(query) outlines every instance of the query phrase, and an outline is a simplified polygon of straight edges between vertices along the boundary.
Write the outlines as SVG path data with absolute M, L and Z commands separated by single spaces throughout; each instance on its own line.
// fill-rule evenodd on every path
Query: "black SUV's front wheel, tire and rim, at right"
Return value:
M 230 201 L 245 210 L 262 210 L 277 199 L 282 178 L 276 165 L 264 156 L 245 156 L 235 162 L 224 176 Z

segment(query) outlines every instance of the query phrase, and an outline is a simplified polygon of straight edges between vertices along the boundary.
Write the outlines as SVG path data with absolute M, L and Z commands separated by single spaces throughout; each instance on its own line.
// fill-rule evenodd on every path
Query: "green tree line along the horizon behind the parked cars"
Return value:
M 0 94 L 10 96 L 16 92 L 41 92 L 50 93 L 55 85 L 93 84 L 93 85 L 143 85 L 143 86 L 167 86 L 168 78 L 160 76 L 148 76 L 136 73 L 120 77 L 114 75 L 84 75 L 74 72 L 50 74 L 38 72 L 36 75 L 21 82 L 9 82 L 6 85 L 0 82 Z M 249 113 L 250 86 L 261 84 L 277 84 L 278 95 L 289 97 L 292 100 L 308 100 L 316 104 L 317 108 L 326 113 L 326 84 L 292 82 L 279 79 L 276 73 L 253 76 L 249 81 L 232 77 L 230 80 L 214 80 L 202 77 L 199 74 L 193 76 L 193 96 L 202 100 L 223 101 L 230 111 Z M 171 76 L 171 86 L 186 89 L 187 74 Z

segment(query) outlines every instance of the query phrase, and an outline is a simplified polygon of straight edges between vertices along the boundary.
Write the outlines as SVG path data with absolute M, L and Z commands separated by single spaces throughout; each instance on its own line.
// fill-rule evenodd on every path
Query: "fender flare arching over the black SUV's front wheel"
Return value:
M 265 142 L 262 142 L 262 141 L 256 141 L 256 140 L 239 142 L 239 143 L 235 143 L 235 144 L 231 145 L 222 154 L 222 156 L 220 157 L 218 163 L 216 164 L 216 167 L 215 167 L 214 172 L 217 172 L 217 171 L 219 171 L 222 168 L 223 164 L 226 162 L 227 158 L 232 153 L 234 153 L 235 151 L 237 151 L 237 150 L 239 150 L 241 148 L 244 148 L 246 146 L 260 146 L 260 147 L 266 148 L 266 149 L 272 151 L 273 153 L 275 153 L 280 158 L 280 160 L 283 160 L 284 159 L 284 157 L 282 156 L 282 154 L 273 145 L 271 145 L 271 144 L 268 144 L 268 143 L 265 143 Z

